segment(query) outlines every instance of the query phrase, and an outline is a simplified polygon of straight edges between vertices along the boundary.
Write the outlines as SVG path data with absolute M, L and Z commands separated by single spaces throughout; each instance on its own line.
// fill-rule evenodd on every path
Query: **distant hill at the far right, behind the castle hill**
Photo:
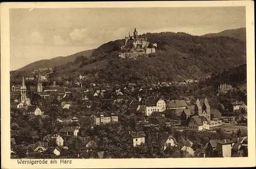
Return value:
M 218 36 L 228 36 L 228 37 L 240 39 L 242 41 L 246 41 L 246 28 L 242 27 L 239 29 L 225 30 L 215 34 L 203 35 L 203 37 L 218 37 Z

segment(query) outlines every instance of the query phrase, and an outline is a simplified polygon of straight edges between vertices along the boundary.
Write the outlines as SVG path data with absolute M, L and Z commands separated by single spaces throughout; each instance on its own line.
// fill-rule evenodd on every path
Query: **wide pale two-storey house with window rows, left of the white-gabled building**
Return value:
M 94 125 L 118 122 L 117 114 L 110 111 L 98 112 L 96 114 L 93 114 L 91 118 L 94 121 Z

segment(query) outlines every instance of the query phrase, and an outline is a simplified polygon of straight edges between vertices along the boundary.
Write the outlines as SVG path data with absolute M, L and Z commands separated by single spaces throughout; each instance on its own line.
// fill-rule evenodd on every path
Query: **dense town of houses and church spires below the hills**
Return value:
M 248 156 L 246 102 L 219 104 L 224 114 L 205 95 L 171 97 L 198 79 L 97 84 L 79 75 L 60 85 L 49 71 L 11 85 L 11 158 Z M 216 92 L 233 90 L 221 83 Z

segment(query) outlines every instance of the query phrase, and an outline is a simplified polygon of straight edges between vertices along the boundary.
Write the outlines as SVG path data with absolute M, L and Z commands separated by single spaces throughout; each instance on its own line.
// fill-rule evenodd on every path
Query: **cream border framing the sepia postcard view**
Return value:
M 10 159 L 9 8 L 150 8 L 246 6 L 248 156 L 238 158 L 72 159 L 72 164 L 17 164 Z M 138 168 L 255 166 L 255 79 L 253 1 L 1 3 L 1 150 L 2 168 Z

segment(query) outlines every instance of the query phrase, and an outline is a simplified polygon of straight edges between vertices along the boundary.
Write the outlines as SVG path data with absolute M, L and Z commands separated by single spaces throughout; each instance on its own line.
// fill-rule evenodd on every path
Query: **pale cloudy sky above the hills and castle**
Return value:
M 138 34 L 245 27 L 245 7 L 10 9 L 10 69 Z

